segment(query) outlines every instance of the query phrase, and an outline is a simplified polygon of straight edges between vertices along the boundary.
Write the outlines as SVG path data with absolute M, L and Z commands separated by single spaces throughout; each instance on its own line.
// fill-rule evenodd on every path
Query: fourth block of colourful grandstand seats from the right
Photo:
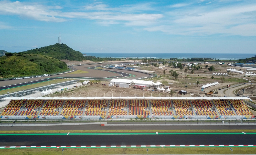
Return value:
M 173 106 L 175 108 L 176 115 L 194 115 L 193 111 L 189 110 L 191 104 L 188 100 L 173 100 Z

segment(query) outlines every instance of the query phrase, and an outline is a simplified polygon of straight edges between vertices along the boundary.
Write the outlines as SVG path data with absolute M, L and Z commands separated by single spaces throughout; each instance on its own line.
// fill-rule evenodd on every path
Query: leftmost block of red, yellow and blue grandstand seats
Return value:
M 20 108 L 23 106 L 25 102 L 26 100 L 11 100 L 7 107 L 4 109 L 4 111 L 1 113 L 1 115 L 17 115 Z

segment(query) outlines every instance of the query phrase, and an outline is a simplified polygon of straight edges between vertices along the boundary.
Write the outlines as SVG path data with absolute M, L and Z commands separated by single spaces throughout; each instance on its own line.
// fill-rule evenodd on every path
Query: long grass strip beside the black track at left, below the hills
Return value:
M 30 89 L 30 88 L 33 89 L 33 88 L 37 88 L 37 87 L 47 86 L 47 85 L 50 85 L 50 84 L 66 82 L 66 81 L 70 81 L 70 80 L 75 80 L 75 79 L 55 79 L 55 80 L 49 80 L 49 81 L 39 82 L 39 83 L 35 83 L 35 84 L 30 84 L 28 82 L 28 85 L 26 85 L 26 86 L 1 90 L 0 95 L 7 94 L 7 92 L 12 93 L 12 92 L 22 91 L 22 90 L 26 90 L 26 89 Z

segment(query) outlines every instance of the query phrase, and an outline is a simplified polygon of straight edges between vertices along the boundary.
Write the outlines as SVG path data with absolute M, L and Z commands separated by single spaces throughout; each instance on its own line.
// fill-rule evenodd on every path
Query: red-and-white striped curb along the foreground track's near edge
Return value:
M 100 147 L 256 147 L 256 145 L 96 145 L 96 146 L 0 146 L 1 148 L 100 148 Z

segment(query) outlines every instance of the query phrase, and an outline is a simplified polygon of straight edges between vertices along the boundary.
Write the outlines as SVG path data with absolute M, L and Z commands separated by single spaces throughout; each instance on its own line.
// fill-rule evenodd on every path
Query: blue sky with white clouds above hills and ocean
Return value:
M 256 1 L 1 1 L 0 49 L 255 53 Z

